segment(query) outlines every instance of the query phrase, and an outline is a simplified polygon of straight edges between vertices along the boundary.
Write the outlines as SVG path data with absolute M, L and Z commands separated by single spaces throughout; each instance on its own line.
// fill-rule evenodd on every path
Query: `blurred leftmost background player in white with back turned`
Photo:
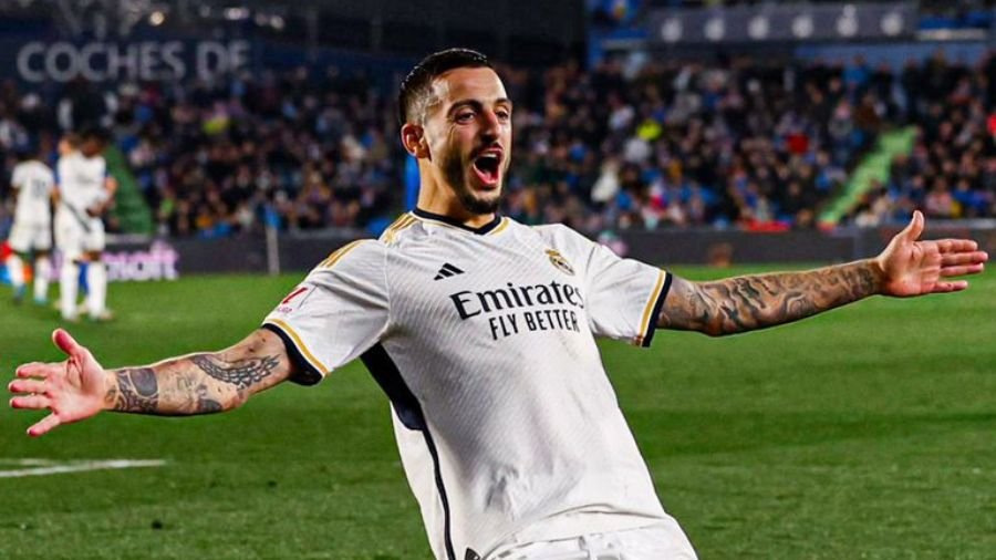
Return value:
M 34 261 L 34 302 L 49 300 L 49 276 L 52 262 L 52 189 L 55 177 L 52 169 L 33 154 L 24 153 L 11 173 L 10 186 L 17 200 L 14 222 L 10 230 L 13 252 L 7 259 L 7 269 L 14 290 L 14 303 L 24 299 L 24 261 Z

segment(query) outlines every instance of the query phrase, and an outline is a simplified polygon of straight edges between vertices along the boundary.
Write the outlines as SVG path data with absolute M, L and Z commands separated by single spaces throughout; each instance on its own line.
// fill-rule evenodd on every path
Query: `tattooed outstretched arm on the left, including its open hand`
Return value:
M 294 367 L 280 338 L 262 329 L 220 352 L 121 370 L 104 370 L 62 329 L 52 339 L 68 359 L 24 364 L 9 385 L 17 395 L 12 407 L 51 411 L 28 429 L 31 436 L 101 411 L 164 416 L 229 411 L 287 380 Z

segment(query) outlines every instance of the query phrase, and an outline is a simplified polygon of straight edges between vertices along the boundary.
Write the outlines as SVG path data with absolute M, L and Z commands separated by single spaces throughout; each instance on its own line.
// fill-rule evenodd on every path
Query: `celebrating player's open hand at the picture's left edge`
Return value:
M 108 394 L 107 373 L 89 350 L 68 332 L 56 329 L 52 341 L 69 357 L 59 363 L 33 362 L 18 367 L 18 378 L 8 388 L 14 393 L 13 408 L 51 411 L 28 428 L 28 435 L 41 436 L 62 424 L 86 419 L 101 412 Z

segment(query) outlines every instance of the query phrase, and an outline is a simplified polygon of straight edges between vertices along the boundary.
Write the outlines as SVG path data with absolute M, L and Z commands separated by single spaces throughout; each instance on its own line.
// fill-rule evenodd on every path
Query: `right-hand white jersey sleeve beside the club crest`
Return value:
M 623 259 L 563 226 L 557 226 L 567 250 L 582 267 L 591 332 L 596 336 L 649 346 L 657 315 L 671 288 L 671 273 L 634 259 Z

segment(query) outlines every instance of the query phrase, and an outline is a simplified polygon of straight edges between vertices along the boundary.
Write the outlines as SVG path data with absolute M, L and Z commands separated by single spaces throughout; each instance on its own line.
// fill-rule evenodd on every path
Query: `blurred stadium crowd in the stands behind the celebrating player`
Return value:
M 516 102 L 505 212 L 606 228 L 813 227 L 821 205 L 885 128 L 916 147 L 845 220 L 996 215 L 996 59 L 938 54 L 900 73 L 727 58 L 622 61 L 542 72 L 499 68 Z M 0 151 L 51 153 L 82 122 L 112 129 L 158 231 L 361 227 L 398 211 L 405 154 L 393 92 L 363 74 L 303 69 L 217 82 L 0 87 Z M 112 229 L 114 225 L 111 225 Z

